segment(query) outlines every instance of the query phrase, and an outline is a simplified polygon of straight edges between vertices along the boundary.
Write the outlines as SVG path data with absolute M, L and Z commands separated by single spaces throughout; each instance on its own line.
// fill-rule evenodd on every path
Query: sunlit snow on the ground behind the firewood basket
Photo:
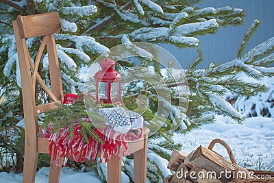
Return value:
M 247 169 L 274 170 L 274 119 L 253 117 L 242 125 L 217 116 L 216 123 L 205 125 L 186 136 L 175 135 L 175 142 L 183 144 L 185 154 L 203 145 L 208 147 L 214 138 L 221 138 L 232 149 L 236 161 Z M 229 159 L 226 149 L 216 144 L 214 151 Z

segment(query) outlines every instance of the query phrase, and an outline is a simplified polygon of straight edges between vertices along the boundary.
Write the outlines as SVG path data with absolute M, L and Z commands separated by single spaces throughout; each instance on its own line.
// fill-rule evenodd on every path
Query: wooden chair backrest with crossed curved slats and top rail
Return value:
M 54 33 L 60 32 L 60 17 L 57 12 L 18 16 L 12 24 L 21 72 L 25 134 L 32 134 L 31 136 L 35 138 L 38 132 L 37 114 L 57 108 L 56 103 L 63 101 L 60 68 L 53 36 Z M 43 36 L 43 38 L 34 61 L 29 54 L 26 39 L 36 36 Z M 46 46 L 49 58 L 50 87 L 45 84 L 38 73 L 40 59 Z M 51 98 L 51 102 L 36 106 L 36 82 Z

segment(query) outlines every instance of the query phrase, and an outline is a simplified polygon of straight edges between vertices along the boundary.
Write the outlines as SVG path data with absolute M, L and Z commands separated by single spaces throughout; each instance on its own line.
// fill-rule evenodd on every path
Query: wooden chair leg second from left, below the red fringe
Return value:
M 60 180 L 60 173 L 62 170 L 64 158 L 60 158 L 60 166 L 53 161 L 53 154 L 51 155 L 51 164 L 49 168 L 49 183 L 58 183 Z

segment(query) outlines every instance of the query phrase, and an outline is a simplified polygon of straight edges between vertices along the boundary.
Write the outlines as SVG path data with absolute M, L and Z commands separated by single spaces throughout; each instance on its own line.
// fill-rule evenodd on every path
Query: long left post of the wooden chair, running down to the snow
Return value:
M 12 22 L 18 51 L 18 60 L 21 71 L 22 97 L 25 117 L 25 157 L 23 182 L 34 182 L 38 160 L 36 133 L 38 132 L 37 117 L 35 114 L 34 91 L 32 90 L 32 76 L 29 72 L 29 62 L 25 41 L 19 36 L 16 21 Z

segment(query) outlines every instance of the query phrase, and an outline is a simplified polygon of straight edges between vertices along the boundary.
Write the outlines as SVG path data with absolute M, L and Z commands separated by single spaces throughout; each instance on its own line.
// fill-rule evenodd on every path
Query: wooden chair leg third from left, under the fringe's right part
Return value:
M 107 162 L 108 166 L 108 183 L 121 182 L 121 158 L 112 156 Z

